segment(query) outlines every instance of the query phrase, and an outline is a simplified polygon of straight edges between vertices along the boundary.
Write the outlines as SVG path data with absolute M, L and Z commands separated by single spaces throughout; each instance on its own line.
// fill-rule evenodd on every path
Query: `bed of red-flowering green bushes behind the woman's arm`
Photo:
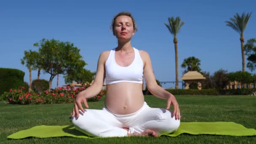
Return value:
M 10 89 L 9 92 L 2 94 L 1 99 L 8 104 L 65 104 L 72 103 L 78 93 L 88 88 L 88 86 L 81 88 L 74 87 L 59 87 L 52 89 L 51 92 L 45 91 L 42 94 L 37 94 L 35 91 L 24 92 L 24 87 L 20 89 Z M 100 92 L 97 96 L 94 96 L 87 101 L 99 101 L 104 95 L 104 92 Z

